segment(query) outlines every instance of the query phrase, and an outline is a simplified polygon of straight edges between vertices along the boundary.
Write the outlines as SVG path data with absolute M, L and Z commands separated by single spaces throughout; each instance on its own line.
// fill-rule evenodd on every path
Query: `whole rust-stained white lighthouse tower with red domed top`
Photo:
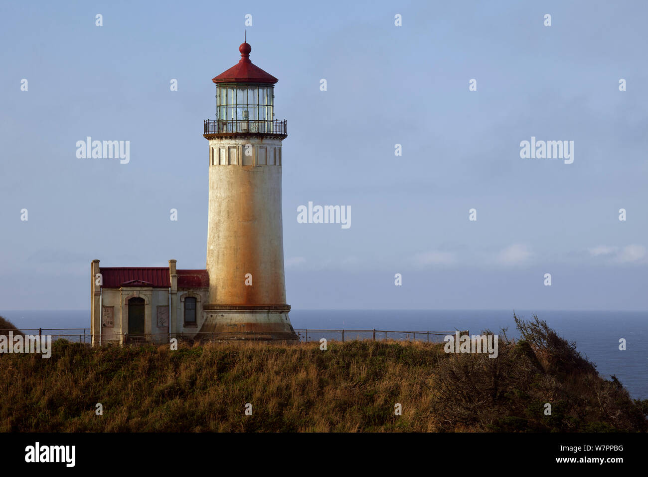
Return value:
M 253 65 L 251 47 L 216 76 L 209 140 L 209 302 L 200 332 L 231 339 L 297 339 L 288 319 L 281 223 L 281 141 L 277 79 Z

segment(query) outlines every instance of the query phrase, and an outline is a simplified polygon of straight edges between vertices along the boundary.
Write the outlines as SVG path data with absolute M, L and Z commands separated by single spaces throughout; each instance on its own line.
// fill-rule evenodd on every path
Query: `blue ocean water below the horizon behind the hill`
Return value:
M 576 342 L 576 349 L 596 364 L 601 376 L 611 374 L 636 399 L 648 399 L 648 312 L 515 310 L 531 319 L 533 313 L 556 332 Z M 89 328 L 88 310 L 52 312 L 0 310 L 19 328 Z M 507 336 L 518 337 L 513 310 L 292 310 L 295 329 L 376 329 L 393 331 L 469 330 L 481 334 L 508 327 Z M 88 331 L 89 332 L 89 331 Z M 310 335 L 310 333 L 309 333 Z M 627 350 L 619 350 L 625 338 Z M 439 341 L 439 339 L 437 339 Z

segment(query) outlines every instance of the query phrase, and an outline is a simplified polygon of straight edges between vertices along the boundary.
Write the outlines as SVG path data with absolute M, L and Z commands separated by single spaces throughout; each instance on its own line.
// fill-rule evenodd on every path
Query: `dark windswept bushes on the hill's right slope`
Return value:
M 596 365 L 533 315 L 513 313 L 521 338 L 502 330 L 497 358 L 446 354 L 433 370 L 436 430 L 498 432 L 645 431 L 648 402 L 633 402 L 615 376 Z M 489 334 L 489 332 L 485 332 Z M 503 339 L 502 339 L 503 338 Z M 551 414 L 546 414 L 546 404 Z

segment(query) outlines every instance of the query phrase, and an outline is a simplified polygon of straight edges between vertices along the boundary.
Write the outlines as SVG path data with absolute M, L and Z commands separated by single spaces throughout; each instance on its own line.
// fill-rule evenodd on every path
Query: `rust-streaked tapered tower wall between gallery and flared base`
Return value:
M 281 140 L 214 138 L 209 158 L 210 304 L 285 305 Z

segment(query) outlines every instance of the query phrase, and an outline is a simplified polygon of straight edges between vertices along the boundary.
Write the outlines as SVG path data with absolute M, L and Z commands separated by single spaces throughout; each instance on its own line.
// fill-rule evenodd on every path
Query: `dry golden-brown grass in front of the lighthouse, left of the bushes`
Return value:
M 422 343 L 329 343 L 327 351 L 214 343 L 172 352 L 59 342 L 49 360 L 0 358 L 0 431 L 426 431 L 422 383 L 438 354 Z

